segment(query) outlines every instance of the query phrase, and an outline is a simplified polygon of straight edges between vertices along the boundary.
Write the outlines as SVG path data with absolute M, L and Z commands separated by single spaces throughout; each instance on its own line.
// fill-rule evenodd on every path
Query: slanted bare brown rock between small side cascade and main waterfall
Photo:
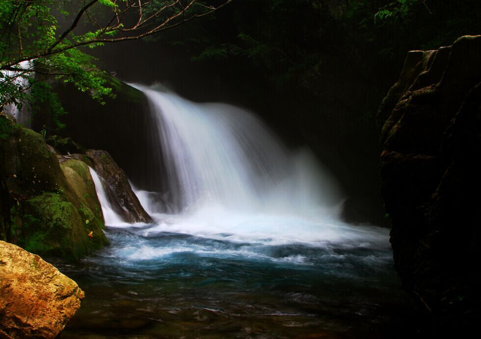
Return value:
M 124 170 L 117 166 L 107 151 L 89 149 L 85 153 L 97 173 L 107 182 L 107 195 L 123 219 L 131 223 L 152 223 L 153 220 L 138 201 Z

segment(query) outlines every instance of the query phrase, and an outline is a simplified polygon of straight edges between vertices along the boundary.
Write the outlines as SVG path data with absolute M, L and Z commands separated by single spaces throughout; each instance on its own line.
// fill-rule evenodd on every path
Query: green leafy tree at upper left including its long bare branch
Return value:
M 49 82 L 73 84 L 100 102 L 112 95 L 86 47 L 150 36 L 230 1 L 0 0 L 0 107 L 46 104 L 62 128 L 65 112 Z

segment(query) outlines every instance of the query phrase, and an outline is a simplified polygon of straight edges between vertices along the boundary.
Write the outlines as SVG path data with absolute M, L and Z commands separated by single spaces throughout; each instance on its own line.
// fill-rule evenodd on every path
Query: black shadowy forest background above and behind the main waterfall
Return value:
M 375 115 L 406 53 L 480 34 L 479 0 L 234 0 L 148 40 L 93 50 L 125 82 L 254 111 L 308 145 L 347 197 L 345 218 L 387 225 Z

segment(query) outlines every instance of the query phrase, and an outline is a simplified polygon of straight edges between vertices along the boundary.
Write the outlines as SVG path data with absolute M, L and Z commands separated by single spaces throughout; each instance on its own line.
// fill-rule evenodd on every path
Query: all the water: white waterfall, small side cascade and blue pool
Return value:
M 132 186 L 155 223 L 124 223 L 90 169 L 110 246 L 61 268 L 88 295 L 62 336 L 392 337 L 396 320 L 379 324 L 405 295 L 388 230 L 342 222 L 342 195 L 310 152 L 239 108 L 135 86 L 165 187 Z

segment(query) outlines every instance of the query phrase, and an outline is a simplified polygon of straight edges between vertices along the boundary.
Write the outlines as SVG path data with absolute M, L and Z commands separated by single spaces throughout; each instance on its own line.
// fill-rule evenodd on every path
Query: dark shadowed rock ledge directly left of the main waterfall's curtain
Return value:
M 150 135 L 152 118 L 147 98 L 138 89 L 115 78 L 107 76 L 106 80 L 112 95 L 102 100 L 105 104 L 72 84 L 53 83 L 62 107 L 69 112 L 61 117 L 66 127 L 55 130 L 51 110 L 46 109 L 37 110 L 32 117 L 32 128 L 41 130 L 45 125 L 47 133 L 70 137 L 87 149 L 104 149 L 136 185 L 163 191 L 161 178 L 148 175 L 148 169 L 156 165 L 150 149 L 158 136 Z M 85 152 L 69 151 L 71 155 Z

